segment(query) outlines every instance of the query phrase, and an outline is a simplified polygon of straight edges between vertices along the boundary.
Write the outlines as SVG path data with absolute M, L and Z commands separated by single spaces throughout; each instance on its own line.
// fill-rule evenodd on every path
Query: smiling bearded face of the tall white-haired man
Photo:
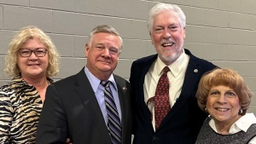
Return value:
M 162 11 L 154 17 L 151 42 L 160 59 L 168 66 L 183 53 L 185 28 L 171 11 Z

